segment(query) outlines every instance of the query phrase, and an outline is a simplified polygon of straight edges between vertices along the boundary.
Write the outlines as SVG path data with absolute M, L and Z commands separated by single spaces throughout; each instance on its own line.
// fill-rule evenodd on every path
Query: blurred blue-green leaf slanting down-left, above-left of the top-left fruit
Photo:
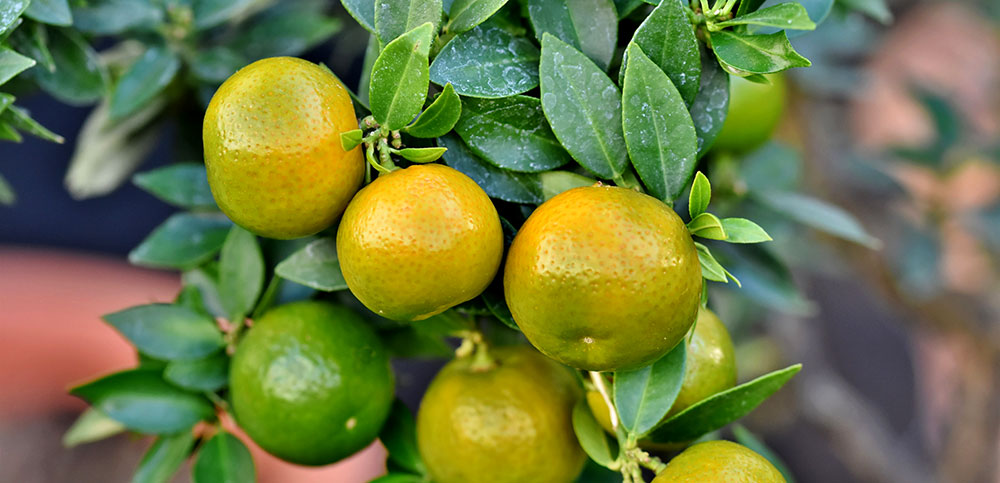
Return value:
M 111 118 L 121 120 L 145 107 L 167 87 L 180 67 L 180 59 L 169 48 L 146 49 L 111 93 Z

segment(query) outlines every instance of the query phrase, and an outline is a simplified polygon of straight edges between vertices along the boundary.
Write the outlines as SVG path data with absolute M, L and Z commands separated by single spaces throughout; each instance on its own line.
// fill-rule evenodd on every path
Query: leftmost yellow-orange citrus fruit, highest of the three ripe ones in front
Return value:
M 254 62 L 212 97 L 202 137 L 219 208 L 269 238 L 312 235 L 333 224 L 364 176 L 347 89 L 316 64 L 291 57 Z

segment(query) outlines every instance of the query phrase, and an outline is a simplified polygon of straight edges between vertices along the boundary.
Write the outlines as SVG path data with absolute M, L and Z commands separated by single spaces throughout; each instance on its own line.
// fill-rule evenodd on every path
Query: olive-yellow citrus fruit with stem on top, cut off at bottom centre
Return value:
M 490 351 L 496 366 L 454 360 L 417 413 L 417 445 L 437 483 L 568 483 L 586 456 L 573 432 L 580 386 L 527 346 Z

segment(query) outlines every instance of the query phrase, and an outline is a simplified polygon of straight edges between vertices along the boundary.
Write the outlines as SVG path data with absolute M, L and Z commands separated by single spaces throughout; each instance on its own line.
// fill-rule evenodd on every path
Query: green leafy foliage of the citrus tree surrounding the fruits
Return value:
M 780 147 L 740 154 L 748 161 L 739 168 L 706 161 L 725 122 L 731 76 L 768 83 L 768 75 L 809 66 L 789 34 L 816 28 L 833 0 L 342 0 L 350 17 L 331 16 L 322 2 L 305 0 L 13 3 L 20 10 L 8 2 L 8 11 L 0 12 L 7 22 L 0 24 L 7 42 L 0 49 L 0 82 L 35 66 L 23 77 L 53 96 L 99 102 L 67 178 L 77 195 L 106 192 L 126 178 L 152 148 L 169 106 L 190 99 L 205 105 L 238 68 L 301 53 L 348 19 L 370 37 L 352 93 L 358 129 L 341 142 L 363 149 L 366 180 L 397 166 L 444 163 L 493 199 L 506 244 L 547 199 L 574 187 L 614 184 L 658 198 L 682 215 L 697 237 L 706 280 L 742 286 L 760 304 L 798 311 L 808 302 L 765 243 L 772 236 L 741 217 L 743 208 L 752 204 L 782 223 L 875 243 L 846 213 L 795 191 L 795 180 L 783 178 L 775 164 L 789 156 Z M 836 3 L 872 15 L 884 11 L 868 2 Z M 97 54 L 90 42 L 103 38 L 114 39 L 113 47 Z M 13 106 L 13 96 L 0 96 L 0 136 L 23 131 L 54 138 Z M 702 171 L 720 174 L 714 198 L 721 203 L 712 203 L 712 183 Z M 133 180 L 182 211 L 129 260 L 179 270 L 184 287 L 173 303 L 105 317 L 135 346 L 139 363 L 71 390 L 92 408 L 66 441 L 122 431 L 156 435 L 137 469 L 141 481 L 168 479 L 191 455 L 195 481 L 253 479 L 249 453 L 220 428 L 219 416 L 229 410 L 230 356 L 247 321 L 275 305 L 306 298 L 347 304 L 369 320 L 394 357 L 449 357 L 454 351 L 447 338 L 469 340 L 476 326 L 497 340 L 519 337 L 499 280 L 425 321 L 389 321 L 364 310 L 347 291 L 336 226 L 298 240 L 258 238 L 219 212 L 201 163 Z M 703 291 L 703 304 L 708 296 Z M 679 344 L 660 360 L 613 378 L 580 373 L 616 418 L 610 435 L 585 406 L 573 412 L 576 436 L 594 464 L 641 481 L 640 466 L 655 470 L 663 463 L 638 441 L 676 443 L 711 434 L 800 370 L 793 365 L 760 376 L 664 418 L 677 397 L 685 357 Z M 391 470 L 382 481 L 426 481 L 413 431 L 412 416 L 396 404 L 380 435 Z M 763 448 L 745 430 L 739 435 Z

